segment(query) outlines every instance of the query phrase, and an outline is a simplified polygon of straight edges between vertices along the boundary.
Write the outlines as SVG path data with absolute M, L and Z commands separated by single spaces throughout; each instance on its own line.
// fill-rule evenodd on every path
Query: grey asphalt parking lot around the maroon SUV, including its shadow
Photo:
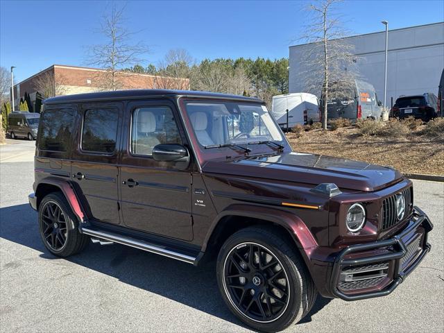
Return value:
M 28 205 L 34 142 L 0 146 L 1 332 L 250 332 L 225 307 L 214 264 L 194 267 L 120 245 L 59 259 Z M 286 332 L 443 332 L 444 183 L 415 180 L 432 252 L 385 298 L 318 298 Z

